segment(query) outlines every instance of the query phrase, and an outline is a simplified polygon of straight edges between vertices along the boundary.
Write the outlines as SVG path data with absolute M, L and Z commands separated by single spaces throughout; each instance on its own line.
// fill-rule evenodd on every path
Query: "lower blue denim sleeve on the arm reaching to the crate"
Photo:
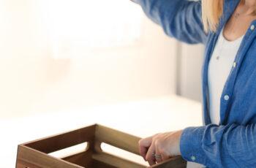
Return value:
M 206 167 L 255 167 L 256 125 L 189 127 L 181 134 L 181 156 Z

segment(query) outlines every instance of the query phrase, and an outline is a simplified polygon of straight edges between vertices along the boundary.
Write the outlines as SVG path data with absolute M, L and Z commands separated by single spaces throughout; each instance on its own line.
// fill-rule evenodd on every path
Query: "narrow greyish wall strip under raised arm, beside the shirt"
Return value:
M 189 99 L 202 101 L 201 72 L 203 45 L 180 44 L 178 48 L 177 93 Z

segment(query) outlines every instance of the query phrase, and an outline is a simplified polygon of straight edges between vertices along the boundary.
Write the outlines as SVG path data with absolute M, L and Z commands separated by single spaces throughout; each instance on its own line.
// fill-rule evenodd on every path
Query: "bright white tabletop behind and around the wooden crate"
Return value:
M 138 137 L 146 137 L 157 132 L 199 126 L 201 121 L 201 104 L 179 96 L 0 120 L 1 134 L 6 137 L 0 143 L 0 156 L 5 158 L 0 167 L 15 167 L 17 145 L 20 143 L 92 123 L 101 123 Z M 140 157 L 109 147 L 106 150 L 145 164 Z

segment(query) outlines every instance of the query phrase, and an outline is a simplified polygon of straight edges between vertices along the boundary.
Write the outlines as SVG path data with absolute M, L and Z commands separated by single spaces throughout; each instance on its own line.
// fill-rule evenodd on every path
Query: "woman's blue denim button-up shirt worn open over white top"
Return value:
M 214 125 L 208 112 L 208 64 L 219 33 L 240 0 L 225 0 L 219 28 L 208 34 L 203 31 L 200 1 L 134 1 L 170 37 L 206 45 L 202 71 L 205 124 L 184 129 L 180 145 L 182 157 L 206 167 L 256 167 L 256 20 L 241 42 L 220 99 L 220 123 Z

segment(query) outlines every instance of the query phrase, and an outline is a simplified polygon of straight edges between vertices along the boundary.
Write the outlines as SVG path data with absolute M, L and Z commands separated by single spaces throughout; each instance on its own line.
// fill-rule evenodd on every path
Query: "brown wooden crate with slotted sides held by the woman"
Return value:
M 101 148 L 101 143 L 104 142 L 116 148 L 139 155 L 139 140 L 139 137 L 95 124 L 83 129 L 69 131 L 64 134 L 58 134 L 18 145 L 16 168 L 145 168 L 145 166 L 135 163 L 134 161 L 105 153 Z M 69 148 L 83 142 L 88 142 L 83 152 L 62 159 L 49 155 L 49 153 Z M 186 161 L 181 159 L 181 157 L 176 157 L 156 164 L 152 166 L 152 168 L 184 168 L 186 166 Z

